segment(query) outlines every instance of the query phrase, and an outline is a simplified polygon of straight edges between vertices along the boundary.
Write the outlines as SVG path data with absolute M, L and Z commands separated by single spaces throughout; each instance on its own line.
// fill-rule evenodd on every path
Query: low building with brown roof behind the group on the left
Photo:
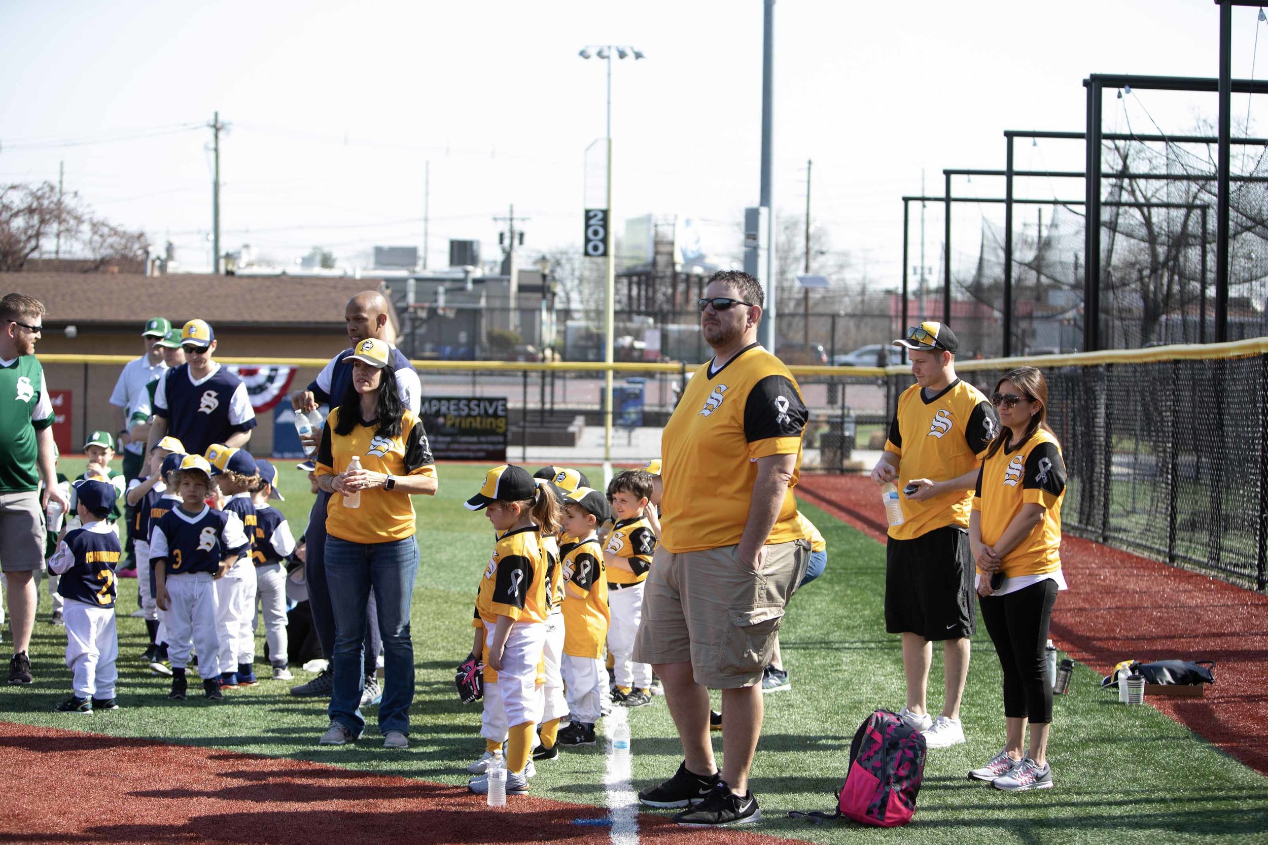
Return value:
M 200 318 L 216 332 L 217 358 L 320 358 L 347 346 L 344 308 L 361 291 L 388 293 L 380 279 L 249 275 L 127 275 L 84 273 L 0 273 L 0 296 L 18 291 L 44 303 L 41 358 L 128 355 L 145 351 L 141 330 L 150 317 L 174 326 Z M 391 308 L 391 297 L 388 296 Z M 389 312 L 389 340 L 397 317 Z M 74 331 L 67 327 L 74 326 Z M 85 433 L 118 431 L 122 411 L 110 405 L 120 364 L 44 362 L 49 390 L 68 391 L 72 450 Z M 318 367 L 299 367 L 292 390 L 311 382 Z M 273 454 L 273 412 L 260 416 L 247 449 Z

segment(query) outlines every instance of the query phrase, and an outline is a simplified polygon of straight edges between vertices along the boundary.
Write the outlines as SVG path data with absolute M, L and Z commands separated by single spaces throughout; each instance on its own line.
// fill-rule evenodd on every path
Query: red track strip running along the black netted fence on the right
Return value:
M 803 476 L 796 488 L 885 542 L 880 492 L 867 476 Z M 1268 596 L 1075 537 L 1061 540 L 1070 589 L 1051 636 L 1102 675 L 1120 660 L 1213 660 L 1203 698 L 1151 695 L 1149 704 L 1268 774 Z

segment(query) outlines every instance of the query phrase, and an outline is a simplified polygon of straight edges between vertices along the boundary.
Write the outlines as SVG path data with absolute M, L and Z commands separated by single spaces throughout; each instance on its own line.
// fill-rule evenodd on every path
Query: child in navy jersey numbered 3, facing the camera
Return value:
M 203 501 L 212 487 L 212 467 L 199 454 L 180 462 L 176 490 L 180 504 L 150 532 L 150 565 L 158 586 L 158 608 L 166 612 L 171 691 L 183 700 L 190 648 L 198 650 L 203 694 L 221 700 L 219 641 L 216 636 L 216 586 L 250 549 L 237 514 L 212 510 Z

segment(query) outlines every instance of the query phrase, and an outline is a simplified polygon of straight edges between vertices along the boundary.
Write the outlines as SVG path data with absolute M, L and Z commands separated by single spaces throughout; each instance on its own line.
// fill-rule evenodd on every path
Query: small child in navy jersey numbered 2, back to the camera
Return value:
M 48 568 L 62 576 L 57 591 L 65 599 L 66 665 L 74 674 L 71 697 L 58 704 L 61 713 L 113 711 L 114 667 L 119 641 L 114 629 L 114 570 L 119 565 L 119 537 L 105 521 L 114 509 L 114 485 L 76 481 L 76 514 L 81 528 L 72 529 L 48 558 Z

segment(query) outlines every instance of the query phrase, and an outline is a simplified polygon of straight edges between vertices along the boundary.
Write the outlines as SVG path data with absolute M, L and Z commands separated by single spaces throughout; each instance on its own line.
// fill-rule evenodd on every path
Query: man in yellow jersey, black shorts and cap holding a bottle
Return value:
M 969 511 L 981 457 L 999 433 L 995 409 L 956 378 L 960 349 L 951 327 L 922 322 L 905 346 L 915 384 L 898 397 L 885 452 L 872 481 L 899 487 L 903 523 L 885 544 L 885 631 L 903 636 L 907 705 L 899 716 L 931 749 L 964 742 L 960 699 L 976 628 Z M 926 708 L 933 642 L 942 642 L 946 698 L 935 719 Z

